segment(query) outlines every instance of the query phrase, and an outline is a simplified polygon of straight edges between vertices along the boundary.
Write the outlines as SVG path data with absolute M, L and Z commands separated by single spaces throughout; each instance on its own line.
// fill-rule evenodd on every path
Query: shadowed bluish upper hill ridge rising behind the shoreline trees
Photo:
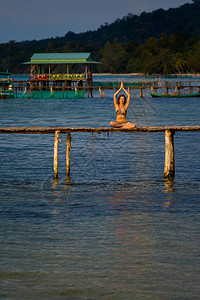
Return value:
M 159 37 L 164 32 L 168 36 L 174 32 L 200 35 L 200 0 L 192 4 L 184 4 L 168 10 L 158 9 L 151 13 L 143 12 L 139 16 L 128 14 L 111 24 L 104 24 L 97 30 L 84 33 L 68 32 L 63 37 L 43 39 L 40 41 L 25 41 L 21 45 L 45 47 L 49 42 L 60 46 L 66 42 L 98 43 L 104 45 L 108 40 L 117 38 L 119 42 L 145 42 L 149 37 Z

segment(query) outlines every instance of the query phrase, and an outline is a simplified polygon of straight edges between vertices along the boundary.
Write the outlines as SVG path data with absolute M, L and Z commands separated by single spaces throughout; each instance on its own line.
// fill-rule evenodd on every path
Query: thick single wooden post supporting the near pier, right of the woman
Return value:
M 164 178 L 175 176 L 174 131 L 165 130 L 165 167 Z

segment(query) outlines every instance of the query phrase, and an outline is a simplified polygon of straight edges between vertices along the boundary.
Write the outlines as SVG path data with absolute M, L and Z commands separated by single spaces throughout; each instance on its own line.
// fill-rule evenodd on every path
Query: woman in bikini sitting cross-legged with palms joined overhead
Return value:
M 127 95 L 120 95 L 117 100 L 118 93 L 123 90 Z M 117 114 L 116 121 L 110 122 L 110 125 L 114 128 L 133 129 L 136 127 L 134 123 L 129 123 L 126 120 L 127 109 L 130 104 L 131 95 L 125 90 L 123 82 L 121 83 L 120 89 L 114 94 L 114 106 Z

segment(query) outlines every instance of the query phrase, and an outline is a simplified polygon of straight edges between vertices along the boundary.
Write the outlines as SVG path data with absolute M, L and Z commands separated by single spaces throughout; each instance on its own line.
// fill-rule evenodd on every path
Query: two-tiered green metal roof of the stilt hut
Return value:
M 98 64 L 90 53 L 34 53 L 24 64 Z

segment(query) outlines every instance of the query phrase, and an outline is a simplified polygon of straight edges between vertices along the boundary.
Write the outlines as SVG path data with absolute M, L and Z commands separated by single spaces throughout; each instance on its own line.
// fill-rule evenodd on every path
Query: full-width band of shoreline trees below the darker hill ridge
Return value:
M 169 38 L 162 33 L 159 38 L 150 37 L 143 44 L 135 41 L 120 43 L 109 40 L 105 46 L 98 43 L 78 45 L 67 42 L 60 46 L 49 42 L 46 47 L 22 47 L 15 42 L 0 45 L 0 70 L 13 74 L 28 73 L 23 62 L 34 52 L 91 52 L 101 64 L 96 72 L 109 73 L 200 73 L 200 37 L 174 33 Z

